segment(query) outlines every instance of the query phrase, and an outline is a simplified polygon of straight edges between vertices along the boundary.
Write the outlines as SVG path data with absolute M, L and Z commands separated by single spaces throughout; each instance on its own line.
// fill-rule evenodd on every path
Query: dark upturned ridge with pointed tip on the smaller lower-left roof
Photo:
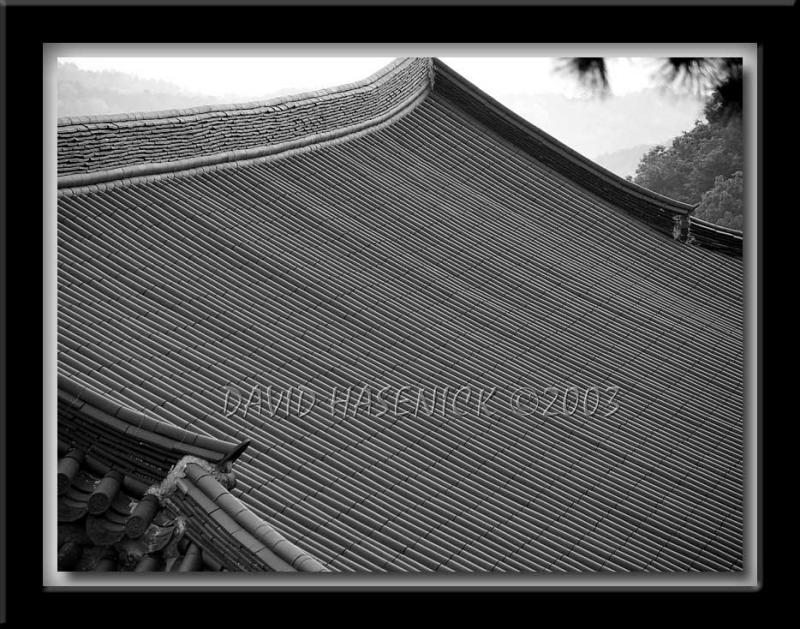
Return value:
M 133 433 L 141 441 L 175 452 L 177 456 L 198 456 L 212 463 L 233 462 L 249 442 L 228 443 L 158 421 L 110 400 L 59 374 L 58 396 L 74 408 L 88 405 L 95 409 L 96 421 L 121 433 Z

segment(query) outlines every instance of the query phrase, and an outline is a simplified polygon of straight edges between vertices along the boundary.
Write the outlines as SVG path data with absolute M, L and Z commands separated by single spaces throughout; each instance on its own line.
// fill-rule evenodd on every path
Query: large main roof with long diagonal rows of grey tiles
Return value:
M 113 156 L 76 140 L 72 163 L 85 141 L 92 163 L 129 170 L 62 169 L 94 179 L 60 182 L 60 374 L 162 424 L 250 441 L 238 502 L 216 511 L 249 535 L 215 556 L 229 569 L 255 556 L 334 571 L 741 570 L 741 258 L 693 246 L 689 206 L 615 178 L 440 62 L 398 62 L 378 84 L 401 71 L 396 99 L 352 133 L 301 130 L 314 139 L 269 151 L 243 134 L 253 152 L 201 142 L 187 162 L 179 142 L 150 162 L 128 132 Z M 338 111 L 346 93 L 280 125 Z M 220 120 L 190 118 L 157 120 L 175 137 Z M 365 384 L 497 387 L 496 409 L 516 386 L 619 387 L 619 408 L 223 410 L 232 388 Z M 175 504 L 208 514 L 214 489 L 186 471 Z M 239 506 L 267 527 L 237 521 Z M 197 539 L 219 524 L 190 521 Z M 285 544 L 270 545 L 273 526 Z

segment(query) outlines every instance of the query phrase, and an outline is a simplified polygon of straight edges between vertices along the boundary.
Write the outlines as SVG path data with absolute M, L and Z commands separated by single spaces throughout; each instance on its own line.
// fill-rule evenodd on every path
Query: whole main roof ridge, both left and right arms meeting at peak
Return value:
M 595 163 L 441 60 L 428 57 L 398 58 L 360 81 L 265 101 L 62 118 L 59 195 L 239 167 L 348 141 L 394 123 L 431 93 L 544 166 L 676 240 L 722 239 L 728 248 L 741 240 L 741 232 L 696 222 L 695 206 Z M 690 218 L 695 231 L 702 232 L 700 238 L 691 238 Z

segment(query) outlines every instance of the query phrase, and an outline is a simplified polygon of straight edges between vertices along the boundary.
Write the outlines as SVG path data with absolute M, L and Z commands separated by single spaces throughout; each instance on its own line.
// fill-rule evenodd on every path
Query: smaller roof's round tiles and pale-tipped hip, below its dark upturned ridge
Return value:
M 96 473 L 93 445 L 60 451 L 59 570 L 325 571 L 231 494 L 232 472 L 187 456 L 131 493 L 118 469 Z

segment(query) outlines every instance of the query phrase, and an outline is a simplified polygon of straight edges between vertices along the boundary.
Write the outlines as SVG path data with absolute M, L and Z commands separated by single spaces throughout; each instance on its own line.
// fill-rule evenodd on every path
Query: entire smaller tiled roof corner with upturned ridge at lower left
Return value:
M 246 442 L 165 434 L 63 377 L 59 405 L 59 570 L 326 571 L 231 494 Z

